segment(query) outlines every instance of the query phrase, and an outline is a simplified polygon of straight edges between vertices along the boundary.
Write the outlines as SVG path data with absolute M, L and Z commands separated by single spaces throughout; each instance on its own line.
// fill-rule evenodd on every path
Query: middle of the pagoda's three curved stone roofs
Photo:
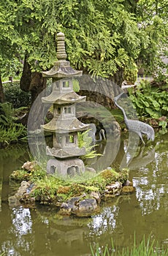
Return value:
M 85 102 L 85 98 L 86 98 L 85 96 L 80 96 L 76 94 L 75 91 L 70 91 L 68 93 L 53 91 L 47 97 L 42 97 L 42 102 L 64 105 L 64 104 L 72 104 L 77 102 Z

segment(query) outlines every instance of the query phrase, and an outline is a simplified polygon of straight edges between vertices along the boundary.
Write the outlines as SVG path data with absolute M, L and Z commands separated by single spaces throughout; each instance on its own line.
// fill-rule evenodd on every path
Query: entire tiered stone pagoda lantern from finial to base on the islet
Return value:
M 75 117 L 75 104 L 85 101 L 85 96 L 79 96 L 73 91 L 72 78 L 82 75 L 70 67 L 66 61 L 64 34 L 58 33 L 57 58 L 52 69 L 42 72 L 47 78 L 53 78 L 53 91 L 42 98 L 44 103 L 53 103 L 53 119 L 42 128 L 53 133 L 53 148 L 47 146 L 47 155 L 54 157 L 47 162 L 47 173 L 60 175 L 83 173 L 83 161 L 77 157 L 85 154 L 85 148 L 78 147 L 77 132 L 88 129 Z

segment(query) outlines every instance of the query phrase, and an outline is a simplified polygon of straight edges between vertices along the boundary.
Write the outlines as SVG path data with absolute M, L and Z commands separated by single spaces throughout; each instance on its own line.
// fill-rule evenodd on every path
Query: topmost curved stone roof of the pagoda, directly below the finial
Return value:
M 61 79 L 79 75 L 83 75 L 83 71 L 72 69 L 72 67 L 70 67 L 69 61 L 62 59 L 56 61 L 50 70 L 42 72 L 42 76 L 45 78 Z

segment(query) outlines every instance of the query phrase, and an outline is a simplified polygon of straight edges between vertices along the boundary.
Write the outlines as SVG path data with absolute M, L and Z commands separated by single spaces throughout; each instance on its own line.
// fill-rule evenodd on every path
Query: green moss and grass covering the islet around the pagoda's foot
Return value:
M 41 176 L 40 173 L 42 173 Z M 34 167 L 31 172 L 16 170 L 10 176 L 16 181 L 30 181 L 30 184 L 33 184 L 30 192 L 26 196 L 23 195 L 22 199 L 25 197 L 28 200 L 29 197 L 31 202 L 31 198 L 34 197 L 35 201 L 39 203 L 53 204 L 59 207 L 73 197 L 90 198 L 93 192 L 104 195 L 107 185 L 114 184 L 115 181 L 120 181 L 123 184 L 128 177 L 128 169 L 123 169 L 118 173 L 112 168 L 108 168 L 107 170 L 102 170 L 96 176 L 88 176 L 88 178 L 85 177 L 84 173 L 75 178 L 65 177 L 63 179 L 57 176 L 47 176 L 44 170 L 40 170 L 39 166 Z M 112 195 L 112 197 L 114 196 Z

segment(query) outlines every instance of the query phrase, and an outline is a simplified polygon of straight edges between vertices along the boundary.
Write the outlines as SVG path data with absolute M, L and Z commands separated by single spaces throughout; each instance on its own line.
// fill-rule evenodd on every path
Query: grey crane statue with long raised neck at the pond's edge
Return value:
M 144 144 L 145 144 L 145 142 L 142 138 L 142 134 L 146 134 L 148 140 L 154 140 L 155 139 L 155 132 L 153 130 L 153 127 L 150 127 L 149 124 L 145 124 L 142 121 L 128 119 L 126 117 L 125 110 L 123 110 L 123 108 L 121 108 L 121 106 L 118 105 L 118 103 L 117 103 L 118 99 L 121 97 L 122 94 L 124 94 L 124 92 L 119 94 L 117 97 L 114 97 L 114 102 L 115 102 L 115 105 L 118 108 L 120 108 L 123 112 L 123 117 L 124 117 L 124 121 L 126 123 L 126 127 L 129 129 L 129 131 L 137 133 L 137 135 L 139 135 L 140 139 L 142 140 L 142 143 L 144 143 Z

